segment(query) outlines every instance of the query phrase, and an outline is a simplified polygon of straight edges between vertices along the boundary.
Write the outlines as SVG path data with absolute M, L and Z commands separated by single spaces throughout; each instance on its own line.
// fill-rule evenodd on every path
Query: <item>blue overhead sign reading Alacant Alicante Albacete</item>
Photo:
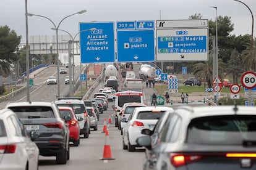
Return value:
M 79 30 L 81 63 L 115 61 L 114 22 L 79 23 Z

